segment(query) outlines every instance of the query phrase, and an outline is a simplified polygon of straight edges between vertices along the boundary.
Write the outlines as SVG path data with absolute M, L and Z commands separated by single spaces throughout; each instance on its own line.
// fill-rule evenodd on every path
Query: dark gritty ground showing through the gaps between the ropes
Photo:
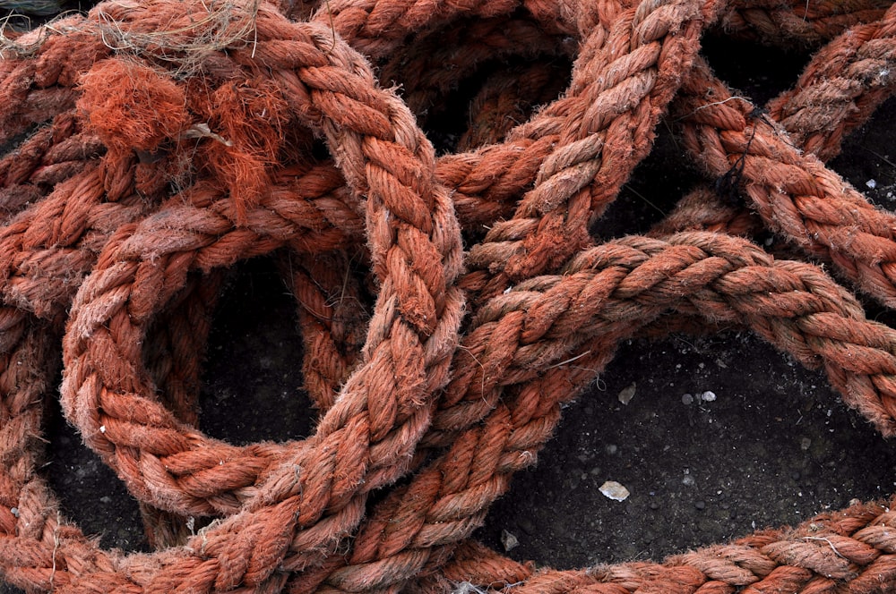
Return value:
M 807 59 L 718 39 L 706 51 L 722 78 L 757 102 L 796 81 Z M 891 101 L 831 164 L 883 207 L 896 196 L 894 118 Z M 645 230 L 697 178 L 676 147 L 674 125 L 659 128 L 657 150 L 595 229 L 600 238 Z M 869 312 L 896 321 L 878 308 Z M 314 421 L 302 394 L 297 332 L 271 262 L 235 268 L 204 371 L 203 430 L 235 444 L 308 434 Z M 44 471 L 65 515 L 104 547 L 147 550 L 134 499 L 57 409 L 47 438 Z M 633 340 L 565 409 L 538 464 L 514 479 L 477 536 L 501 550 L 515 541 L 509 555 L 539 565 L 661 560 L 801 522 L 853 498 L 889 496 L 896 492 L 891 448 L 840 403 L 822 373 L 747 332 Z M 607 498 L 599 491 L 607 480 L 631 495 Z

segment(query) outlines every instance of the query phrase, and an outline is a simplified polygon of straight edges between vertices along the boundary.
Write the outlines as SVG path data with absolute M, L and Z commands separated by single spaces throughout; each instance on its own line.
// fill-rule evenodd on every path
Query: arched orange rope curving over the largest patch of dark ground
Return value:
M 513 471 L 534 462 L 559 403 L 593 380 L 618 341 L 668 309 L 743 324 L 805 364 L 823 364 L 851 405 L 885 434 L 896 430 L 896 333 L 865 321 L 817 268 L 774 262 L 719 234 L 609 242 L 582 252 L 563 276 L 535 277 L 479 310 L 455 364 L 470 371 L 452 379 L 427 437 L 448 452 L 377 506 L 352 541 L 355 567 L 333 571 L 328 583 L 377 590 L 469 536 Z M 587 366 L 563 364 L 582 352 Z

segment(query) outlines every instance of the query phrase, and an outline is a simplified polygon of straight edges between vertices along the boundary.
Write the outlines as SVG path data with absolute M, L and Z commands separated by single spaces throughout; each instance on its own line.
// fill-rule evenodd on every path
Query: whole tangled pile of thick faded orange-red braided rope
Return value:
M 827 45 L 760 115 L 699 55 L 713 28 Z M 877 504 L 583 571 L 469 539 L 560 404 L 670 318 L 752 329 L 896 434 L 896 331 L 748 237 L 771 229 L 896 305 L 896 216 L 823 165 L 892 93 L 894 37 L 896 8 L 862 0 L 109 0 L 5 39 L 0 576 L 65 592 L 896 587 L 896 516 Z M 523 60 L 482 84 L 465 152 L 436 158 L 418 121 L 508 56 Z M 749 210 L 697 188 L 647 235 L 596 243 L 666 114 Z M 305 440 L 231 446 L 196 429 L 196 353 L 221 271 L 274 253 L 320 419 Z M 140 500 L 155 553 L 99 548 L 38 472 L 60 352 L 65 417 Z M 188 516 L 216 519 L 192 535 Z

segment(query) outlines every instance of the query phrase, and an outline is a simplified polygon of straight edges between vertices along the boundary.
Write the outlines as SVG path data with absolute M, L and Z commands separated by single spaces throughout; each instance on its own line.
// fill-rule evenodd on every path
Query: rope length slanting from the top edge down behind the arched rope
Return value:
M 475 280 L 465 284 L 481 283 L 485 296 L 494 295 L 556 267 L 590 242 L 591 217 L 615 199 L 649 149 L 653 127 L 699 47 L 711 4 L 638 4 L 620 12 L 607 31 L 595 19 L 566 96 L 526 124 L 555 133 L 562 148 L 541 165 L 513 218 L 495 223 L 470 250 Z M 558 116 L 569 112 L 582 113 L 582 119 L 557 128 Z

